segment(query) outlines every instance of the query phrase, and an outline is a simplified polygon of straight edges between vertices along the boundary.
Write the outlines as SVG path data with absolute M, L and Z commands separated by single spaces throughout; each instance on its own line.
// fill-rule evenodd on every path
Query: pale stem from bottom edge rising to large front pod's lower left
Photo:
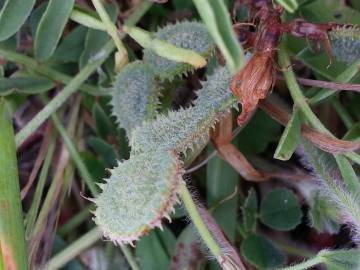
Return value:
M 94 243 L 101 239 L 102 233 L 96 227 L 91 231 L 84 234 L 82 237 L 71 243 L 67 248 L 60 251 L 48 262 L 46 269 L 55 270 L 59 269 L 69 261 L 74 259 L 78 254 L 87 248 L 91 247 Z

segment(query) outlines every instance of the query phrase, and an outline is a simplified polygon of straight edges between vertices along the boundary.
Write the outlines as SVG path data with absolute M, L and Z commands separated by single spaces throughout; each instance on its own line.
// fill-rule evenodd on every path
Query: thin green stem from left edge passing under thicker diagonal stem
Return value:
M 68 84 L 73 79 L 72 76 L 61 73 L 51 67 L 46 66 L 45 64 L 39 63 L 38 61 L 29 56 L 17 53 L 12 50 L 7 50 L 0 47 L 0 55 L 8 61 L 24 65 L 27 68 L 30 68 L 37 73 L 50 78 L 53 81 L 61 82 L 62 84 Z M 79 86 L 79 89 L 89 94 L 99 93 L 97 87 L 89 84 L 82 84 L 81 86 Z

